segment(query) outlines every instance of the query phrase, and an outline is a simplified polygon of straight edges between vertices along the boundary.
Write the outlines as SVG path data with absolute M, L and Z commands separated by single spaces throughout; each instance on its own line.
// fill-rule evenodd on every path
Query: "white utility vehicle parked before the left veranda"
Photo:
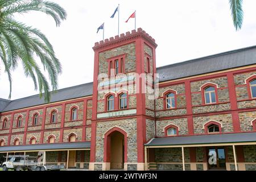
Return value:
M 9 155 L 7 162 L 2 164 L 3 171 L 14 169 L 15 171 L 28 170 L 28 171 L 47 171 L 47 170 L 60 170 L 64 169 L 64 165 L 41 165 L 38 163 L 38 157 L 29 155 Z

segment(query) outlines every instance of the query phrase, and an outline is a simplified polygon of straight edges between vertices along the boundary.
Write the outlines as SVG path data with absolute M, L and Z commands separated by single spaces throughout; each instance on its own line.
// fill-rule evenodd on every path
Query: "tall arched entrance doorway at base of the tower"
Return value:
M 127 161 L 127 134 L 117 127 L 105 134 L 104 161 L 110 169 L 123 169 Z

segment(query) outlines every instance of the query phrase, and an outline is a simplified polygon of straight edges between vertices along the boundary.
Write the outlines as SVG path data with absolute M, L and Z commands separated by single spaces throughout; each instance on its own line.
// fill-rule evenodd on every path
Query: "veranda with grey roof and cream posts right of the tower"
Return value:
M 256 133 L 154 138 L 145 145 L 146 170 L 256 171 Z

